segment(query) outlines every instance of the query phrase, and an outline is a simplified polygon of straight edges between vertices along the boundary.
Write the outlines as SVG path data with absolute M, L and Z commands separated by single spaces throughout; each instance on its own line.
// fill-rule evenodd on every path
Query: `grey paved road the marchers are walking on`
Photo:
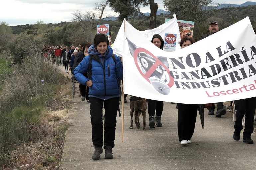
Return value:
M 93 161 L 89 104 L 82 102 L 78 95 L 77 92 L 69 118 L 72 126 L 66 131 L 61 170 L 256 169 L 256 132 L 252 134 L 255 144 L 234 141 L 232 113 L 217 118 L 208 115 L 205 109 L 204 129 L 197 115 L 192 143 L 181 146 L 176 104 L 164 102 L 163 127 L 150 129 L 146 119 L 147 130 L 143 131 L 129 129 L 129 100 L 124 104 L 124 142 L 121 142 L 122 117 L 117 117 L 114 159 L 104 159 L 103 152 L 100 160 Z

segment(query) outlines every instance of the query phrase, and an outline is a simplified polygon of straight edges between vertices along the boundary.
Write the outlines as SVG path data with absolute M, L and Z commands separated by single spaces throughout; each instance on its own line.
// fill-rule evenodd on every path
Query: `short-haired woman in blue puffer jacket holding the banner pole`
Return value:
M 108 37 L 104 34 L 95 36 L 94 44 L 90 46 L 88 54 L 89 56 L 85 57 L 75 68 L 74 76 L 81 84 L 89 87 L 92 142 L 95 149 L 92 159 L 99 160 L 100 154 L 103 152 L 103 144 L 105 159 L 112 159 L 120 95 L 120 86 L 117 79 L 123 79 L 123 64 L 116 55 L 112 56 L 113 50 L 109 46 Z M 90 73 L 89 78 L 84 76 L 86 72 Z M 104 143 L 103 105 L 105 109 Z

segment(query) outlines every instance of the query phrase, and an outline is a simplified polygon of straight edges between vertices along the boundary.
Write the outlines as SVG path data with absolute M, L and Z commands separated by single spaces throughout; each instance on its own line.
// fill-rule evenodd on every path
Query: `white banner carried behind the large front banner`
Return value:
M 139 31 L 137 29 L 134 29 L 136 33 L 142 34 L 149 42 L 151 41 L 154 34 L 159 34 L 163 39 L 165 38 L 165 33 L 172 33 L 177 34 L 177 41 L 179 42 L 181 40 L 180 38 L 180 31 L 176 19 L 176 15 L 173 15 L 174 18 L 169 20 L 168 22 L 160 25 L 157 28 L 149 29 L 145 31 Z M 127 21 L 126 21 L 127 22 Z M 134 32 L 130 32 L 133 34 Z M 117 33 L 115 42 L 112 46 L 113 53 L 117 56 L 123 56 L 123 42 L 124 42 L 124 21 Z M 176 44 L 176 50 L 180 49 L 180 45 Z

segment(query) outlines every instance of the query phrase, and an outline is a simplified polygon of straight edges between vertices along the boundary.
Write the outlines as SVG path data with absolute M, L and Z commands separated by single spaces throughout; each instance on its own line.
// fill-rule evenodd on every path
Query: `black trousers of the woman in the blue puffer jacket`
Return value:
M 119 97 L 102 100 L 96 97 L 89 97 L 91 107 L 92 143 L 94 146 L 103 146 L 103 121 L 102 108 L 104 104 L 104 148 L 105 146 L 115 147 L 116 115 L 119 107 Z

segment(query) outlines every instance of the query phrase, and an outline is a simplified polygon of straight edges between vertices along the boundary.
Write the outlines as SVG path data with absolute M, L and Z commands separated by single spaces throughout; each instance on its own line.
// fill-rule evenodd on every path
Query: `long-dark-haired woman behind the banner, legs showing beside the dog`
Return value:
M 164 40 L 159 34 L 155 34 L 152 37 L 151 43 L 153 43 L 155 46 L 157 46 L 160 49 L 164 48 Z M 155 128 L 155 125 L 157 127 L 161 127 L 161 115 L 164 108 L 164 102 L 163 101 L 156 101 L 156 100 L 150 100 L 148 99 L 148 114 L 149 114 L 149 127 Z M 155 117 L 156 112 L 156 117 Z M 156 119 L 155 119 L 156 118 Z

